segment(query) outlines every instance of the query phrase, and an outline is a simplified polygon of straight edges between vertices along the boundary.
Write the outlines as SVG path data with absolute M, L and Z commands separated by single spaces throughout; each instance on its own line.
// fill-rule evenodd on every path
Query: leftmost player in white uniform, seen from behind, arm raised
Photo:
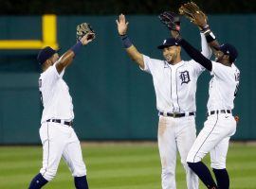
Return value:
M 40 128 L 43 167 L 40 173 L 31 180 L 29 189 L 42 188 L 52 180 L 62 157 L 72 172 L 76 188 L 88 188 L 80 142 L 72 128 L 74 119 L 72 98 L 63 76 L 64 69 L 71 64 L 82 45 L 90 43 L 93 39 L 94 34 L 87 33 L 61 58 L 57 51 L 49 46 L 38 54 L 37 60 L 43 68 L 43 73 L 39 78 L 39 90 L 44 106 Z

